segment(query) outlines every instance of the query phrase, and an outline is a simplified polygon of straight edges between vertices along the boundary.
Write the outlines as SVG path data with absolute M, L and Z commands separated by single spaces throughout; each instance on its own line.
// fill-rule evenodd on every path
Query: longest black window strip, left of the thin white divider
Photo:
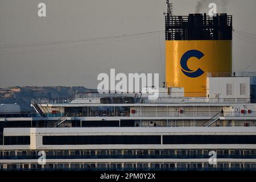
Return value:
M 43 144 L 160 144 L 161 136 L 44 136 Z

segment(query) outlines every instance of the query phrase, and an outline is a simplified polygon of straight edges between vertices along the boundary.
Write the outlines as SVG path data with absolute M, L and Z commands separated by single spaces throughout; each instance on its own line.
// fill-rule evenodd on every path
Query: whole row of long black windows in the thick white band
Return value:
M 30 144 L 29 136 L 4 137 L 4 140 L 5 145 Z M 43 144 L 161 144 L 161 136 L 44 136 Z M 163 135 L 163 144 L 256 144 L 256 135 Z

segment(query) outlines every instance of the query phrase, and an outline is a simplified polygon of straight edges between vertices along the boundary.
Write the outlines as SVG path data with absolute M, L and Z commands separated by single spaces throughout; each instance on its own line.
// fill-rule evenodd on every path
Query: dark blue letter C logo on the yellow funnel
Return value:
M 198 50 L 190 50 L 184 53 L 184 55 L 181 57 L 180 60 L 180 65 L 181 65 L 181 71 L 184 73 L 184 75 L 191 77 L 191 78 L 196 78 L 204 74 L 204 71 L 201 70 L 200 68 L 197 69 L 197 71 L 193 71 L 188 68 L 188 60 L 191 57 L 196 57 L 197 59 L 201 59 L 204 56 L 204 54 L 201 51 Z

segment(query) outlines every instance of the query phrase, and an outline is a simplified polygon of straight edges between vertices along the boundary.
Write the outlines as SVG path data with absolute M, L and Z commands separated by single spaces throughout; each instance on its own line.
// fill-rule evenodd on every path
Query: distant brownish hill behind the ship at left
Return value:
M 68 98 L 74 93 L 96 91 L 84 86 L 14 86 L 0 88 L 0 104 L 16 103 L 21 110 L 30 111 L 30 101 L 35 98 Z

